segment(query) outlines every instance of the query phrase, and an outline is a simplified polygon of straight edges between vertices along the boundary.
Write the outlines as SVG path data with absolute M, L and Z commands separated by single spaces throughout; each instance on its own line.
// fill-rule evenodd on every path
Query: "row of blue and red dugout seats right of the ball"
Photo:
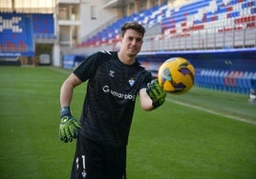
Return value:
M 256 71 L 196 70 L 195 84 L 202 88 L 248 94 L 256 89 Z

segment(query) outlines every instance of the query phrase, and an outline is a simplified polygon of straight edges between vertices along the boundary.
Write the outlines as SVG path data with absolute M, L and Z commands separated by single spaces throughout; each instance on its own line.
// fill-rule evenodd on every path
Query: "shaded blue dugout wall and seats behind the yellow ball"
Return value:
M 256 49 L 158 51 L 139 53 L 139 62 L 157 76 L 162 62 L 186 58 L 195 68 L 201 88 L 249 94 L 256 89 Z

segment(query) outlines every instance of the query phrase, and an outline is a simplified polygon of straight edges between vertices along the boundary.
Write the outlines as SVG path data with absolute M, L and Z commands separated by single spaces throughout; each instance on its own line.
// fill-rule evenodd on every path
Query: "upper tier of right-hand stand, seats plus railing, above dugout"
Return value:
M 151 50 L 199 50 L 242 47 L 242 32 L 246 29 L 245 46 L 255 44 L 256 2 L 244 0 L 204 0 L 169 9 L 168 4 L 142 10 L 125 16 L 78 47 L 100 47 L 117 43 L 119 29 L 123 22 L 138 21 L 147 29 L 144 51 Z M 154 28 L 160 27 L 154 33 Z M 153 30 L 153 31 L 152 31 Z M 208 35 L 207 39 L 203 36 Z M 234 36 L 235 33 L 235 36 Z M 213 36 L 216 35 L 216 38 Z M 232 40 L 236 37 L 235 41 Z M 254 38 L 250 38 L 254 37 Z M 192 38 L 200 39 L 186 43 Z M 225 38 L 225 44 L 223 44 Z M 156 43 L 158 40 L 160 43 Z M 234 43 L 235 42 L 235 43 Z M 233 43 L 233 44 L 232 44 Z M 223 47 L 224 46 L 224 47 Z

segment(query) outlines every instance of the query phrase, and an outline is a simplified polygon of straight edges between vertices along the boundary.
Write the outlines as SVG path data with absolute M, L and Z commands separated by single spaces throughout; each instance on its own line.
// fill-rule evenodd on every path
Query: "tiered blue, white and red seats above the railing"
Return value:
M 256 18 L 256 2 L 254 0 L 204 0 L 192 2 L 176 9 L 169 9 L 168 4 L 163 4 L 160 7 L 141 10 L 139 13 L 117 20 L 106 29 L 85 40 L 80 46 L 113 43 L 120 33 L 120 26 L 127 21 L 138 21 L 147 30 L 160 25 L 162 29 L 160 33 L 172 36 L 212 28 L 223 32 L 226 28 L 240 30 L 238 28 L 240 25 L 246 28 L 255 27 L 255 24 L 251 24 L 255 23 L 254 18 Z

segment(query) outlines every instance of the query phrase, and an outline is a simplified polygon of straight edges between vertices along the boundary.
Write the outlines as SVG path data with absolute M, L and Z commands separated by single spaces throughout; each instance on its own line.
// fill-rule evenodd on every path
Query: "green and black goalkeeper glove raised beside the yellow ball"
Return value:
M 165 100 L 166 92 L 160 87 L 157 79 L 153 79 L 147 86 L 147 94 L 152 99 L 154 109 L 159 108 Z

